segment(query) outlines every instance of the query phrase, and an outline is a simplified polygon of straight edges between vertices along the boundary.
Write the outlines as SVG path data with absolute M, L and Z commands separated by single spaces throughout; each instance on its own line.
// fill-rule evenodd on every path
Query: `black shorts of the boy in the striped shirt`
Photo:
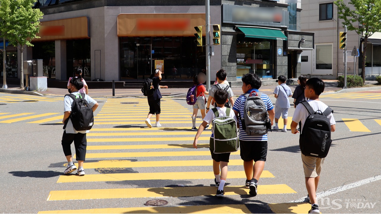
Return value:
M 243 161 L 266 161 L 267 141 L 239 141 Z

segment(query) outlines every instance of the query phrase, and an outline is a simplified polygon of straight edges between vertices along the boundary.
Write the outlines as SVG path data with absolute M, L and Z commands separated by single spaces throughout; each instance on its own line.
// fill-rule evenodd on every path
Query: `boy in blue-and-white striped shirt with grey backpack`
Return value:
M 233 110 L 239 117 L 240 155 L 246 174 L 246 188 L 256 196 L 258 180 L 267 156 L 267 130 L 274 120 L 274 107 L 267 96 L 258 91 L 262 82 L 255 73 L 242 76 L 242 92 Z M 253 161 L 255 164 L 253 164 Z

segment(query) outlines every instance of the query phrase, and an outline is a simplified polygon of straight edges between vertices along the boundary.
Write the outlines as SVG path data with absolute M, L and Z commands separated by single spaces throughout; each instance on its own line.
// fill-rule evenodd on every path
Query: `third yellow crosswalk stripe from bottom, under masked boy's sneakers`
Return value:
M 245 171 L 230 171 L 229 179 L 243 178 Z M 264 170 L 261 178 L 275 177 L 269 171 Z M 86 174 L 80 176 L 59 176 L 57 183 L 72 183 L 72 182 L 106 182 L 106 181 L 121 181 L 121 180 L 184 180 L 184 179 L 212 179 L 213 172 L 148 172 L 148 173 L 107 173 L 107 174 Z

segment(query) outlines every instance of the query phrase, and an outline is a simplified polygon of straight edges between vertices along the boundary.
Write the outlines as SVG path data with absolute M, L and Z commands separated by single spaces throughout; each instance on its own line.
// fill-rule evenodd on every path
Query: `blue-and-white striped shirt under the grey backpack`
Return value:
M 250 89 L 247 93 L 251 93 L 251 91 L 258 92 L 257 89 Z M 270 97 L 267 96 L 267 94 L 262 93 L 261 99 L 263 100 L 264 104 L 267 106 L 267 111 L 274 109 L 274 106 L 272 105 Z M 246 97 L 245 97 L 245 95 L 242 94 L 234 102 L 233 110 L 239 112 L 240 115 L 244 115 L 243 108 L 245 107 L 245 101 L 246 101 Z M 238 119 L 238 123 L 239 123 L 239 135 L 238 135 L 238 137 L 240 140 L 242 140 L 242 141 L 267 141 L 267 134 L 258 135 L 258 136 L 248 135 L 245 133 L 245 130 L 242 129 L 242 122 L 240 119 Z

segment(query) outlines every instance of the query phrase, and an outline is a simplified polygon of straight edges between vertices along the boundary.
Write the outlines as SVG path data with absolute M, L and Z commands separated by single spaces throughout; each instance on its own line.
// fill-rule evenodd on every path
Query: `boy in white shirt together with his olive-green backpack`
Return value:
M 217 103 L 217 108 L 209 111 L 197 131 L 193 141 L 193 147 L 197 149 L 197 140 L 204 127 L 213 122 L 212 135 L 209 141 L 209 150 L 213 159 L 213 173 L 215 175 L 215 185 L 218 187 L 216 196 L 224 197 L 224 185 L 227 178 L 227 164 L 229 163 L 230 152 L 238 150 L 239 141 L 237 136 L 237 117 L 230 108 L 224 105 L 228 102 L 228 94 L 224 89 L 215 92 L 213 100 Z M 223 121 L 228 127 L 219 129 L 219 121 Z M 224 130 L 224 131 L 223 131 Z M 229 131 L 226 131 L 229 130 Z M 219 140 L 223 141 L 219 141 Z M 229 142 L 226 139 L 232 139 Z M 230 147 L 227 145 L 231 145 Z M 221 176 L 219 168 L 221 167 Z

